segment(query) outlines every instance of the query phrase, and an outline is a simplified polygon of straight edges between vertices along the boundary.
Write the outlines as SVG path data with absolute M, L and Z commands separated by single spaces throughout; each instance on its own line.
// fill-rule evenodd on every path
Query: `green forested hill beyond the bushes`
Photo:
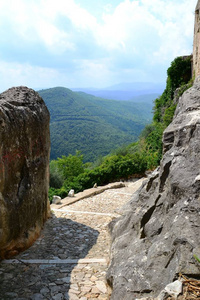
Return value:
M 94 161 L 137 140 L 152 104 L 114 101 L 56 87 L 39 91 L 50 111 L 51 159 L 80 150 Z

